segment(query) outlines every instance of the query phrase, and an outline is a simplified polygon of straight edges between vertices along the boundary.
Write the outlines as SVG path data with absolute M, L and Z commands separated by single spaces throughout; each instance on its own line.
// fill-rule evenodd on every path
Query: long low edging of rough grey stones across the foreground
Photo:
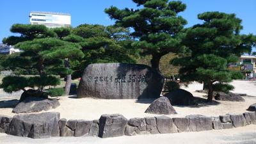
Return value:
M 47 115 L 47 113 L 43 114 Z M 40 114 L 25 115 L 33 115 L 36 119 L 41 118 Z M 57 115 L 60 115 L 60 113 L 57 113 Z M 245 112 L 243 114 L 228 113 L 227 115 L 217 117 L 188 115 L 184 118 L 170 118 L 162 115 L 131 118 L 129 120 L 123 115 L 111 114 L 102 115 L 99 120 L 67 120 L 61 118 L 58 122 L 54 122 L 54 125 L 50 126 L 47 124 L 47 120 L 45 120 L 46 122 L 42 120 L 39 122 L 29 122 L 28 120 L 17 120 L 17 117 L 22 116 L 15 115 L 12 118 L 10 116 L 0 115 L 0 132 L 29 138 L 49 138 L 51 136 L 99 136 L 100 138 L 110 138 L 124 135 L 134 136 L 136 134 L 166 134 L 230 129 L 256 124 L 255 111 Z M 59 116 L 56 118 L 59 118 Z M 31 125 L 29 129 L 27 129 L 28 125 Z M 45 132 L 45 129 L 47 129 L 47 133 L 40 133 Z

